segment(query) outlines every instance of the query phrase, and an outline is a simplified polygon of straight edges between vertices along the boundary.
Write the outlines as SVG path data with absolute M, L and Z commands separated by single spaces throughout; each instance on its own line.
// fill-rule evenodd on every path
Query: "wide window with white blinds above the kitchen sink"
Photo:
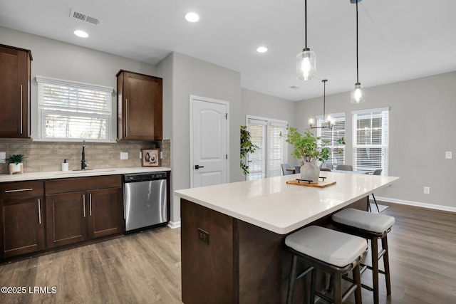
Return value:
M 111 141 L 113 88 L 36 76 L 38 140 Z

